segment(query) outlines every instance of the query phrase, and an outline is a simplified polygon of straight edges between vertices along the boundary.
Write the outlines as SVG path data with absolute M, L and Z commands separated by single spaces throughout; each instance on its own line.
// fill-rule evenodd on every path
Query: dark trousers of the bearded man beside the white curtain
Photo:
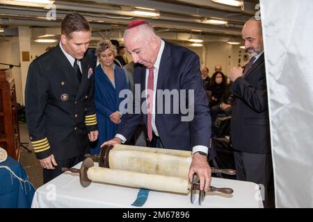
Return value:
M 271 153 L 234 151 L 234 162 L 236 179 L 255 182 L 259 185 L 264 207 L 271 207 L 268 201 L 268 188 L 273 176 Z

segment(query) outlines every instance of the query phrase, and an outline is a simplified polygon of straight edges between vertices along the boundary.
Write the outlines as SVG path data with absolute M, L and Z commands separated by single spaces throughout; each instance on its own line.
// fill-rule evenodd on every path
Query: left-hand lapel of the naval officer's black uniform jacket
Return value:
M 60 73 L 67 79 L 67 83 L 71 85 L 74 90 L 77 92 L 79 89 L 79 80 L 76 78 L 75 71 L 70 64 L 69 60 L 67 60 L 66 56 L 64 55 L 63 51 L 61 50 L 60 44 L 56 46 L 56 59 L 58 60 L 58 67 L 60 69 Z

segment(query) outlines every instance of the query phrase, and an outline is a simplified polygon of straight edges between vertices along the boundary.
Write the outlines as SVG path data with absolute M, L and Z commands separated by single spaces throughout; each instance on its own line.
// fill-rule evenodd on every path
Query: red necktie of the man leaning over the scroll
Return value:
M 149 141 L 152 140 L 152 109 L 153 109 L 153 70 L 149 69 L 149 76 L 147 81 L 147 131 Z

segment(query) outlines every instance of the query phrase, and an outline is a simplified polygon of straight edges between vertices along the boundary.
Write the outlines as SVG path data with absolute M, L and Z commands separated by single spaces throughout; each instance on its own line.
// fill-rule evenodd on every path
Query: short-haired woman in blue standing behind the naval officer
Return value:
M 95 68 L 95 107 L 99 136 L 97 147 L 91 148 L 91 154 L 99 154 L 100 146 L 112 139 L 122 121 L 119 110 L 119 98 L 122 89 L 129 89 L 125 71 L 116 66 L 114 48 L 109 40 L 101 40 L 97 44 L 96 54 L 100 64 Z

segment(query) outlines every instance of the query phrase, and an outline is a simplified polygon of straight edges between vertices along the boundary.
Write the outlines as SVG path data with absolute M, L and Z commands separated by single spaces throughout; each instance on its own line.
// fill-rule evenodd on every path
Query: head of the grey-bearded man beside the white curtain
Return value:
M 249 56 L 257 56 L 263 51 L 262 23 L 260 20 L 249 19 L 242 28 L 241 36 Z

